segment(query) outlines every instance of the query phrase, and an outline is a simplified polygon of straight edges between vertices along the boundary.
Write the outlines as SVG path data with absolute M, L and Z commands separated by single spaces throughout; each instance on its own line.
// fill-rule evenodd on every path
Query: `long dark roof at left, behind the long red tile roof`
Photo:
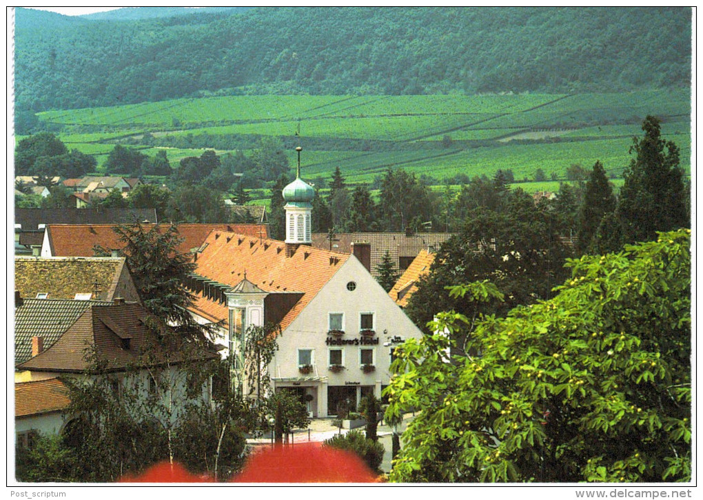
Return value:
M 15 224 L 21 231 L 37 231 L 39 224 L 129 224 L 158 222 L 153 208 L 15 208 Z

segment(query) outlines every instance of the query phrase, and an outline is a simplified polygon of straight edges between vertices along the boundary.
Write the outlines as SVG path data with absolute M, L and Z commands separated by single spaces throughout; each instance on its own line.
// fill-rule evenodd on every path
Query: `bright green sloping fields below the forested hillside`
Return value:
M 304 177 L 328 179 L 339 166 L 350 183 L 370 183 L 391 167 L 441 183 L 457 174 L 491 177 L 498 169 L 512 169 L 521 181 L 534 179 L 537 169 L 564 179 L 569 165 L 590 168 L 596 160 L 620 176 L 646 115 L 661 118 L 662 133 L 681 148 L 681 166 L 690 172 L 685 89 L 570 96 L 228 96 L 53 110 L 38 117 L 60 130 L 68 148 L 94 155 L 98 168 L 115 143 L 147 155 L 165 148 L 175 166 L 214 148 L 215 139 L 221 144 L 273 136 L 290 143 L 299 129 L 303 140 L 316 144 L 304 150 Z M 146 132 L 155 139 L 144 141 Z M 186 139 L 197 147 L 155 146 Z M 288 155 L 294 165 L 295 152 Z

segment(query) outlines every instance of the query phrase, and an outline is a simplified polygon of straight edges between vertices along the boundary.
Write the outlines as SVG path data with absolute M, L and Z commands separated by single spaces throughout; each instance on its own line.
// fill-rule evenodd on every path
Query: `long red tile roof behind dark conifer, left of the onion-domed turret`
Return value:
M 51 255 L 54 257 L 92 257 L 93 247 L 100 245 L 110 250 L 119 250 L 124 246 L 112 229 L 116 224 L 48 224 L 46 231 L 49 236 Z M 151 229 L 155 224 L 143 224 L 145 229 Z M 167 224 L 160 229 L 167 229 Z M 249 236 L 267 236 L 266 224 L 179 224 L 178 232 L 184 241 L 179 251 L 190 252 L 205 241 L 210 231 L 235 231 Z

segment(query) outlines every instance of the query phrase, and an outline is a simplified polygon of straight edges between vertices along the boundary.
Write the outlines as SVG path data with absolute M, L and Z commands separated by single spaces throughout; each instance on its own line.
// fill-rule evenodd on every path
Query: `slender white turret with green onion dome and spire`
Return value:
M 285 200 L 285 255 L 290 257 L 300 245 L 312 244 L 312 200 L 315 190 L 310 184 L 300 179 L 300 152 L 298 152 L 298 169 L 295 181 L 283 188 Z

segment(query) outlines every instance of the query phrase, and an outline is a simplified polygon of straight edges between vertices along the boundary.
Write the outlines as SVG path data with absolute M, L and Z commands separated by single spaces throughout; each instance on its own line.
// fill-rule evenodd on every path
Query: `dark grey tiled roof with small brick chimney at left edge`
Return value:
M 32 357 L 32 337 L 43 338 L 46 350 L 91 305 L 110 304 L 98 300 L 25 299 L 15 309 L 15 365 Z

